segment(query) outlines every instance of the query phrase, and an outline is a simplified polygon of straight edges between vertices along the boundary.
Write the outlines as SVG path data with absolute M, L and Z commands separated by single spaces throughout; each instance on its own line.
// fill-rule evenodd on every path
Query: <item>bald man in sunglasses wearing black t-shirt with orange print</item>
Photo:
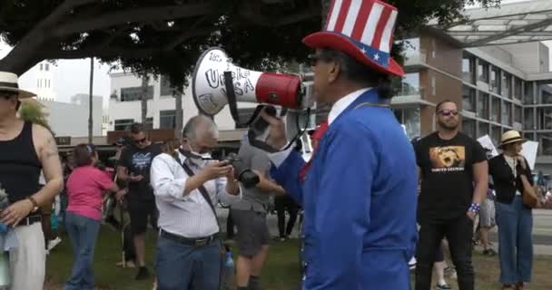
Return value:
M 488 189 L 487 157 L 477 140 L 458 132 L 456 103 L 440 102 L 436 113 L 439 131 L 415 146 L 421 180 L 416 290 L 429 290 L 436 249 L 443 237 L 449 240 L 459 290 L 473 290 L 471 238 L 474 218 Z

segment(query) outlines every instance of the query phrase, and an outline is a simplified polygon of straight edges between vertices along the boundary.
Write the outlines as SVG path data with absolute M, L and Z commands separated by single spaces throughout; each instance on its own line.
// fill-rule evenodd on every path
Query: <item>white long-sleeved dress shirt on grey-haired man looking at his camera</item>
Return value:
M 178 152 L 180 160 L 185 162 L 194 173 L 201 168 Z M 150 171 L 155 203 L 159 209 L 158 226 L 164 231 L 182 237 L 208 237 L 220 231 L 216 217 L 199 189 L 184 196 L 184 187 L 188 174 L 173 156 L 163 153 L 152 161 Z M 231 204 L 242 198 L 242 189 L 237 196 L 226 192 L 226 178 L 212 179 L 203 183 L 213 205 L 219 200 Z

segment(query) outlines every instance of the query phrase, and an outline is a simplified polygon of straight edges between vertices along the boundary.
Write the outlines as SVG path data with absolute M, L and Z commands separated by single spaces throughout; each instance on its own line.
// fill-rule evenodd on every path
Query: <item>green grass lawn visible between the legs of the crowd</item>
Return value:
M 71 273 L 73 263 L 73 252 L 69 238 L 62 236 L 63 242 L 48 256 L 46 290 L 62 289 L 64 280 Z M 146 246 L 147 263 L 150 270 L 153 270 L 153 234 L 148 237 Z M 95 249 L 94 274 L 98 289 L 116 290 L 142 290 L 152 289 L 153 280 L 135 281 L 133 279 L 136 269 L 123 269 L 115 266 L 121 260 L 121 243 L 117 233 L 104 227 Z M 499 289 L 498 257 L 481 256 L 474 254 L 474 265 L 476 267 L 476 289 L 490 290 Z M 534 263 L 532 290 L 552 289 L 552 256 L 537 256 Z M 297 261 L 297 242 L 294 240 L 286 243 L 274 241 L 271 247 L 269 261 L 265 266 L 262 275 L 264 290 L 293 290 L 298 289 L 299 266 Z M 454 285 L 456 281 L 449 279 L 449 284 Z M 453 289 L 457 289 L 454 285 Z M 386 289 L 388 290 L 388 289 Z M 389 289 L 393 290 L 393 289 Z

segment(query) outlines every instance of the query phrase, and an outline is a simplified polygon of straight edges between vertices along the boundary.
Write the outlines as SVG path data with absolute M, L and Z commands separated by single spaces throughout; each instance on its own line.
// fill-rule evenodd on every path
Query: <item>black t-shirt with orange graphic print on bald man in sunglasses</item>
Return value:
M 473 198 L 473 165 L 487 160 L 481 144 L 460 132 L 451 140 L 435 132 L 419 140 L 415 150 L 421 169 L 419 222 L 465 215 Z

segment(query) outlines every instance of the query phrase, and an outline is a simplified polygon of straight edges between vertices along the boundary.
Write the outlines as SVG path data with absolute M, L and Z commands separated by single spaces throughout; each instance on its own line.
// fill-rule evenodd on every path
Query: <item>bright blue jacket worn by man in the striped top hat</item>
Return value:
M 388 108 L 365 92 L 330 124 L 301 183 L 301 154 L 271 170 L 304 208 L 306 290 L 409 289 L 418 170 Z

